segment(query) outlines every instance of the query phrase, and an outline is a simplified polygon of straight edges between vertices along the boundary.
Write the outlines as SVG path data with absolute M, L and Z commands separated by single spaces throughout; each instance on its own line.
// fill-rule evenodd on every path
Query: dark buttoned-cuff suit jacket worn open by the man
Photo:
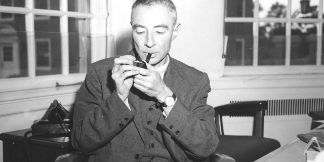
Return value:
M 134 56 L 133 51 L 128 54 Z M 145 97 L 134 87 L 128 96 L 131 110 L 118 97 L 113 61 L 107 58 L 89 67 L 76 97 L 72 145 L 89 154 L 89 161 L 138 161 L 145 138 L 140 109 L 149 105 L 141 105 Z M 174 161 L 204 161 L 219 143 L 215 111 L 206 104 L 208 75 L 170 57 L 165 76 L 177 101 L 167 118 L 161 114 L 158 119 L 163 142 Z

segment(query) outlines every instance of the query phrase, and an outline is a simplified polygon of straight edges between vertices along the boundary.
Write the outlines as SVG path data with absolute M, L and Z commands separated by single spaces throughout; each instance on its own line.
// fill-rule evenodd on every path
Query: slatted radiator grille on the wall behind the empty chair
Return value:
M 281 99 L 281 100 L 266 100 L 266 101 L 268 101 L 268 110 L 266 110 L 265 115 L 268 116 L 303 115 L 303 114 L 308 114 L 311 111 L 324 110 L 324 98 Z M 230 101 L 230 103 L 234 103 L 234 102 L 239 102 L 239 101 Z

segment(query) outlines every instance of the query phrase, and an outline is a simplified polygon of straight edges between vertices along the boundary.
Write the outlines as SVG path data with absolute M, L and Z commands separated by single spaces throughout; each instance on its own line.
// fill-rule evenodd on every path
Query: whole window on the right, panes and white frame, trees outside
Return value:
M 324 73 L 323 0 L 225 0 L 224 74 Z

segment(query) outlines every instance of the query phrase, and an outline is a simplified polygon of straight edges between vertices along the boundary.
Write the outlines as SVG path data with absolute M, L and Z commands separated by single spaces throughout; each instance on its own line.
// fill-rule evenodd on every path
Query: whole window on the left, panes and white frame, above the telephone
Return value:
M 0 61 L 14 62 L 10 69 L 2 66 L 0 71 L 15 71 L 0 75 L 0 84 L 6 85 L 0 87 L 0 92 L 55 87 L 56 82 L 82 82 L 90 63 L 105 56 L 102 52 L 105 47 L 99 47 L 98 39 L 93 37 L 105 33 L 98 27 L 102 23 L 97 23 L 106 18 L 105 9 L 97 10 L 103 3 L 102 0 L 0 0 L 0 45 L 13 45 L 2 46 Z M 12 15 L 10 21 L 2 21 L 9 15 Z

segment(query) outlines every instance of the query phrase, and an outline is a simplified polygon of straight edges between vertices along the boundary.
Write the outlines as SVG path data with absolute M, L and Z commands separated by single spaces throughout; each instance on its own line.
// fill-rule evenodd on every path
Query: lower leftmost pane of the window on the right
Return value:
M 225 23 L 225 35 L 228 36 L 225 65 L 253 64 L 252 28 L 252 23 Z

